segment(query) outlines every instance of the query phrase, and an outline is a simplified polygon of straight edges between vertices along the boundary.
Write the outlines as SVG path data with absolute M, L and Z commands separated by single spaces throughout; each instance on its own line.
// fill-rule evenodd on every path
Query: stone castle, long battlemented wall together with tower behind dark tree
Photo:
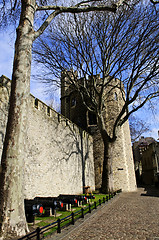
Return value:
M 10 85 L 8 78 L 0 78 L 0 156 Z M 103 145 L 96 119 L 83 108 L 76 91 L 70 89 L 61 84 L 61 114 L 30 94 L 27 157 L 23 168 L 25 198 L 79 194 L 86 186 L 92 191 L 101 186 Z M 117 92 L 114 96 L 116 107 L 120 107 L 120 96 Z M 111 109 L 107 106 L 107 118 L 113 114 Z M 136 180 L 128 122 L 121 127 L 111 149 L 114 190 L 134 191 Z

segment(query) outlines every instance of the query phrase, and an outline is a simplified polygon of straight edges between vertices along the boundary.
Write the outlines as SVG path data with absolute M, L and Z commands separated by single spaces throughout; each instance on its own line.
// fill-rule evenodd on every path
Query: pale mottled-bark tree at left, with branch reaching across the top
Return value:
M 66 3 L 65 3 L 66 2 Z M 51 21 L 62 13 L 107 11 L 115 13 L 124 1 L 4 0 L 0 3 L 0 26 L 18 24 L 15 42 L 8 124 L 2 154 L 0 186 L 0 235 L 9 239 L 28 231 L 23 201 L 23 165 L 27 108 L 30 94 L 32 44 Z M 64 3 L 64 4 L 63 4 Z M 37 30 L 36 30 L 37 29 Z

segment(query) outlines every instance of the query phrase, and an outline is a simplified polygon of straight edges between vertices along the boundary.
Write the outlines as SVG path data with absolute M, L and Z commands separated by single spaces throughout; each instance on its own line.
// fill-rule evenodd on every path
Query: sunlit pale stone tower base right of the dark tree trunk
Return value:
M 135 191 L 136 178 L 134 171 L 133 154 L 129 133 L 129 123 L 126 122 L 117 131 L 117 139 L 110 144 L 112 158 L 114 189 L 122 191 Z

